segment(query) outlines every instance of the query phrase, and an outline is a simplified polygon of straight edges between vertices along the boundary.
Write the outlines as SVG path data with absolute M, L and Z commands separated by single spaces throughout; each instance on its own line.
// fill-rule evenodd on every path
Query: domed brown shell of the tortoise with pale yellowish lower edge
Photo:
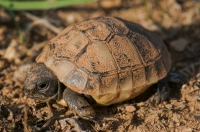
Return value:
M 53 70 L 64 85 L 102 105 L 134 98 L 171 67 L 167 48 L 156 34 L 114 17 L 67 27 L 36 61 Z

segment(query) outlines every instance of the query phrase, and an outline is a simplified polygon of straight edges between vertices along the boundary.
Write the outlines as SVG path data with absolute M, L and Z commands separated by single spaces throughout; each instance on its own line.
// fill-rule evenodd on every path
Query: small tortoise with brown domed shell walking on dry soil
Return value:
M 56 100 L 78 116 L 96 118 L 91 104 L 132 99 L 158 82 L 155 98 L 169 95 L 171 59 L 164 42 L 142 26 L 98 17 L 64 29 L 43 48 L 24 88 L 41 101 Z

